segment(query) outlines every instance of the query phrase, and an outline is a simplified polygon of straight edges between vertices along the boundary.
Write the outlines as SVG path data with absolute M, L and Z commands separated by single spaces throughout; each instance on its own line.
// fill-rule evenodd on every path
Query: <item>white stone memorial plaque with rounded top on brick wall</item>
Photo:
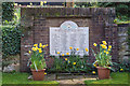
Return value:
M 83 56 L 84 48 L 89 48 L 89 27 L 78 27 L 70 20 L 61 27 L 50 27 L 50 55 L 55 56 L 56 52 L 70 53 L 69 46 L 79 48 L 79 55 Z

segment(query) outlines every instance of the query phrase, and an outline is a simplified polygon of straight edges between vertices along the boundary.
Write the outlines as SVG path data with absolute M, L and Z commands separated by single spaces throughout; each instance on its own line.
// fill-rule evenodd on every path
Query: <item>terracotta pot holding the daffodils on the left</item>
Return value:
M 46 69 L 43 69 L 43 70 L 38 70 L 38 71 L 31 69 L 32 80 L 34 80 L 34 81 L 43 81 L 44 71 L 46 71 Z

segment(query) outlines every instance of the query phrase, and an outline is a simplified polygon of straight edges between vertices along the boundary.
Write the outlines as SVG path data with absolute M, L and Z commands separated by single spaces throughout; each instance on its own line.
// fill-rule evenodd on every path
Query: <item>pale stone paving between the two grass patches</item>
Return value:
M 96 80 L 96 75 L 55 75 L 48 74 L 44 80 L 47 81 L 56 81 L 60 83 L 60 86 L 84 86 L 84 81 L 87 80 Z

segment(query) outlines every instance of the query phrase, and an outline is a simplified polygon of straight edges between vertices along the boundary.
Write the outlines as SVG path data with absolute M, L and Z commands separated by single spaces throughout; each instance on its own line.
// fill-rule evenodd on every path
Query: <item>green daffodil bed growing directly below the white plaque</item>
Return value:
M 48 69 L 50 72 L 66 72 L 66 73 L 81 73 L 87 72 L 91 73 L 92 70 L 95 70 L 92 63 L 88 62 L 87 55 L 83 58 L 80 58 L 77 49 L 70 49 L 70 55 L 66 53 L 58 53 L 58 56 L 54 58 L 54 64 L 51 69 Z

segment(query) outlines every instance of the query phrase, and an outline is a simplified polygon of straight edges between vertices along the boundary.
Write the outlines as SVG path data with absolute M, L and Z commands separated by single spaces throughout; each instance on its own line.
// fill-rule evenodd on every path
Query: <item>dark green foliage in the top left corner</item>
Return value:
M 13 2 L 3 2 L 2 3 L 2 20 L 11 22 L 14 17 L 14 3 Z

